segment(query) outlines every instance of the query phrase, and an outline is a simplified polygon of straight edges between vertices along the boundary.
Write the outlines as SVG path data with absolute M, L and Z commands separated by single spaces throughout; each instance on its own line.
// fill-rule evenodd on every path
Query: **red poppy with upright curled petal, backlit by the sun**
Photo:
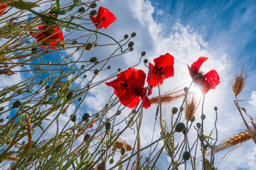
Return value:
M 196 62 L 191 64 L 191 67 L 188 66 L 189 74 L 191 74 L 191 78 L 194 79 L 196 85 L 199 86 L 203 94 L 207 94 L 210 89 L 215 89 L 220 83 L 220 77 L 218 76 L 218 72 L 215 69 L 210 70 L 210 72 L 206 74 L 202 74 L 199 72 L 199 69 L 203 62 L 208 60 L 208 57 L 199 57 Z

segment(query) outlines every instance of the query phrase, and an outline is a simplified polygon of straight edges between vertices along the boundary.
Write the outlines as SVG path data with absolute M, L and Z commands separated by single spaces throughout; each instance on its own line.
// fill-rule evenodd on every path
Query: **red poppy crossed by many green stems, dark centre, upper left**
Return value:
M 48 45 L 56 45 L 58 42 L 64 40 L 62 30 L 58 26 L 47 27 L 43 25 L 38 26 L 38 29 L 42 31 L 38 31 L 38 33 L 29 32 L 29 34 L 35 37 L 39 44 L 47 43 Z M 46 49 L 46 46 L 42 46 L 41 48 Z M 57 47 L 52 47 L 52 49 L 55 48 Z

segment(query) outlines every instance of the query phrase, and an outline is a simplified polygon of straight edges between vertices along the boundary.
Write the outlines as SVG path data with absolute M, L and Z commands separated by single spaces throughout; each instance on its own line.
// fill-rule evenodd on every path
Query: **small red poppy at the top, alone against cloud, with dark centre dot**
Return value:
M 102 17 L 104 18 L 102 19 Z M 100 6 L 99 8 L 97 16 L 90 16 L 90 19 L 92 20 L 92 23 L 95 24 L 96 28 L 99 29 L 102 27 L 107 29 L 107 27 L 110 26 L 111 23 L 114 23 L 114 21 L 117 20 L 113 13 L 111 13 L 107 8 L 103 8 L 102 6 Z

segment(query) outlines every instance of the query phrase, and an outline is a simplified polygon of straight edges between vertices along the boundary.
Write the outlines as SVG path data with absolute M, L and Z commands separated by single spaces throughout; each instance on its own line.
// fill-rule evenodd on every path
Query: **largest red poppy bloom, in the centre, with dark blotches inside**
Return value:
M 122 105 L 128 108 L 135 108 L 146 95 L 145 79 L 146 74 L 141 69 L 130 67 L 118 74 L 117 79 L 106 83 L 106 85 L 114 88 L 114 94 L 119 96 L 119 101 Z M 150 105 L 149 98 L 146 96 L 142 106 L 149 108 Z

